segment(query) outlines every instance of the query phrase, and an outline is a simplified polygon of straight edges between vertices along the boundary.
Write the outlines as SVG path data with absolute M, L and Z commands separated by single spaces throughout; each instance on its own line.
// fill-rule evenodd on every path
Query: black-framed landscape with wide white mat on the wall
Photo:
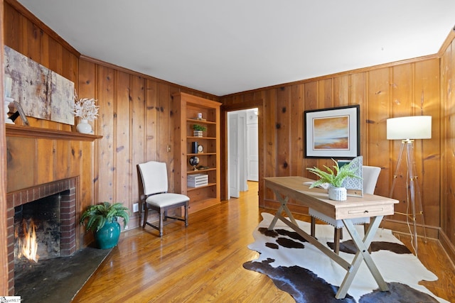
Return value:
M 305 158 L 360 155 L 360 105 L 304 111 Z

